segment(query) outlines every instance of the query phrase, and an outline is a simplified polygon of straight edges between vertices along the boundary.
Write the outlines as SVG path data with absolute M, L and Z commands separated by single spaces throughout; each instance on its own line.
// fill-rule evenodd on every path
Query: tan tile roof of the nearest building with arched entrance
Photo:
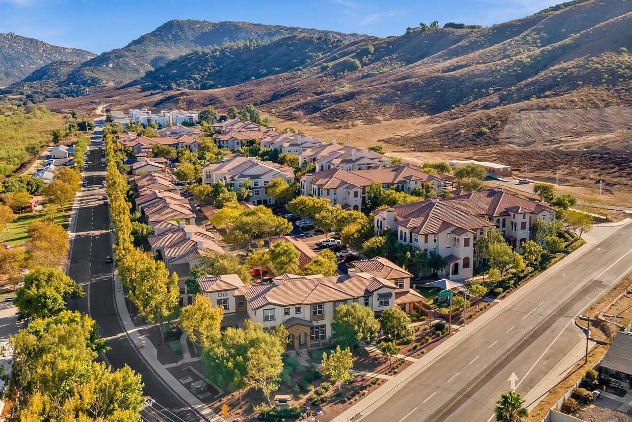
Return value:
M 253 309 L 259 309 L 270 304 L 291 306 L 347 301 L 372 295 L 375 290 L 384 287 L 391 290 L 397 289 L 388 280 L 365 273 L 334 277 L 288 274 L 274 278 L 272 283 L 241 287 L 236 290 L 235 295 L 245 295 L 248 304 Z

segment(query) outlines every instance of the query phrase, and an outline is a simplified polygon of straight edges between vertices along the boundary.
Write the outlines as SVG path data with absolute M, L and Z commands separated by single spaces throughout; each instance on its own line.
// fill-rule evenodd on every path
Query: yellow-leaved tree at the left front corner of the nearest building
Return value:
M 197 294 L 193 303 L 180 310 L 180 325 L 191 342 L 206 350 L 211 342 L 217 341 L 221 333 L 224 311 L 213 306 L 208 296 Z

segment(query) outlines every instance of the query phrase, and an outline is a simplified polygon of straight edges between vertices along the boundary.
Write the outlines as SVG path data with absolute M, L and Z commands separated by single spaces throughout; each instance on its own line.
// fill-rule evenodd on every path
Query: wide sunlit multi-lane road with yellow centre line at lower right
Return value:
M 524 397 L 585 338 L 572 321 L 632 271 L 631 237 L 628 224 L 571 264 L 558 266 L 544 282 L 417 371 L 386 402 L 377 402 L 354 420 L 489 422 L 495 401 L 510 388 L 512 373 L 518 377 L 516 391 Z

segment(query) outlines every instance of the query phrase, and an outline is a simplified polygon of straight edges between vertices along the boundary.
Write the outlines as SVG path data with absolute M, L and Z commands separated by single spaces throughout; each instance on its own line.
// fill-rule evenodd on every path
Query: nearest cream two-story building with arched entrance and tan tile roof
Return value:
M 389 280 L 360 272 L 333 277 L 285 274 L 271 283 L 236 287 L 233 280 L 211 288 L 205 285 L 208 277 L 198 278 L 200 290 L 213 301 L 228 299 L 226 316 L 233 314 L 233 321 L 249 318 L 270 327 L 284 324 L 295 350 L 331 344 L 331 321 L 337 306 L 356 302 L 379 316 L 395 306 L 398 290 Z

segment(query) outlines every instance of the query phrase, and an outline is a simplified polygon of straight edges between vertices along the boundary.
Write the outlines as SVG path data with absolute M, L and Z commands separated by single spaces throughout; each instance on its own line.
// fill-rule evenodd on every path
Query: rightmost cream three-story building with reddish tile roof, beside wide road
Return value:
M 520 252 L 520 245 L 533 239 L 535 220 L 554 221 L 556 211 L 542 202 L 521 198 L 504 189 L 469 192 L 442 199 L 446 205 L 494 221 L 498 230 Z

